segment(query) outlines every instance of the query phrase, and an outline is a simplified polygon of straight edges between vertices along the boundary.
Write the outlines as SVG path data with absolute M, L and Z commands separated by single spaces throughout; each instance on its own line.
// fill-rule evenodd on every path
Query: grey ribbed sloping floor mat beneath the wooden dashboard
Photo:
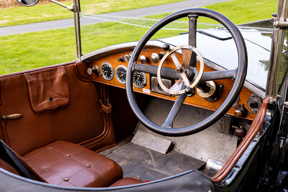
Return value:
M 146 109 L 146 117 L 152 122 L 162 125 L 168 116 L 173 103 L 173 101 L 156 98 L 152 101 L 149 108 Z M 210 110 L 182 105 L 173 123 L 173 128 L 194 125 L 208 117 L 211 113 L 213 112 Z M 240 121 L 244 128 L 247 130 L 250 128 L 250 125 L 247 124 L 246 120 L 240 119 Z M 137 127 L 140 131 L 145 131 L 172 140 L 174 144 L 173 150 L 177 152 L 202 161 L 207 161 L 208 158 L 212 158 L 217 161 L 226 162 L 236 149 L 237 137 L 234 136 L 234 132 L 231 130 L 229 130 L 227 134 L 219 133 L 217 131 L 217 125 L 218 123 L 215 123 L 197 134 L 185 137 L 164 137 L 148 130 L 140 123 L 138 123 Z

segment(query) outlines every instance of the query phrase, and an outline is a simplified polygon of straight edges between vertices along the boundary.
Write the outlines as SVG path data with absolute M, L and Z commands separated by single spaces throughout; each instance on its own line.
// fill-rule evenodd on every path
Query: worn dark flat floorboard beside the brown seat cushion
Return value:
M 154 181 L 188 170 L 199 170 L 204 161 L 197 160 L 179 152 L 166 155 L 128 143 L 106 157 L 116 161 L 123 169 L 123 177 L 140 176 L 142 181 Z

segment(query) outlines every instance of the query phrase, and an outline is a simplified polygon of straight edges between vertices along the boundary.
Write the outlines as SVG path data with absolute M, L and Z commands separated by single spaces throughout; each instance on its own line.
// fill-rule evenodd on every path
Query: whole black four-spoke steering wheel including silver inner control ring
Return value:
M 161 60 L 161 63 L 158 66 L 158 73 L 157 73 L 158 77 L 157 78 L 158 78 L 159 84 L 161 85 L 161 88 L 163 88 L 166 92 L 170 91 L 170 93 L 171 93 L 171 91 L 175 91 L 175 92 L 173 92 L 173 94 L 176 94 L 179 96 L 177 97 L 177 99 L 176 99 L 166 121 L 164 122 L 164 124 L 162 126 L 156 125 L 155 123 L 151 122 L 149 119 L 147 119 L 143 115 L 143 113 L 141 112 L 140 108 L 138 107 L 138 105 L 136 103 L 136 100 L 134 97 L 134 92 L 133 92 L 132 79 L 133 79 L 133 72 L 137 69 L 135 69 L 136 67 L 134 67 L 133 65 L 137 64 L 137 58 L 139 57 L 145 44 L 149 41 L 149 39 L 158 30 L 160 30 L 162 27 L 164 27 L 165 25 L 167 25 L 168 23 L 170 23 L 176 19 L 180 19 L 180 18 L 183 18 L 186 16 L 188 16 L 190 18 L 192 14 L 193 14 L 193 16 L 196 15 L 196 17 L 205 16 L 205 17 L 214 19 L 214 20 L 220 22 L 224 27 L 226 27 L 226 29 L 232 35 L 234 42 L 236 44 L 236 48 L 237 48 L 237 52 L 238 52 L 238 68 L 237 68 L 237 70 L 226 70 L 226 71 L 224 71 L 224 73 L 220 73 L 221 71 L 204 72 L 203 73 L 204 61 L 202 61 L 203 60 L 202 55 L 200 54 L 200 52 L 195 47 L 193 47 L 191 45 L 182 45 L 182 46 L 177 46 L 177 47 L 171 49 L 170 51 L 168 51 L 164 55 L 164 57 Z M 196 45 L 196 21 L 194 21 L 195 22 L 194 24 L 190 23 L 190 21 L 193 22 L 193 19 L 189 19 L 189 43 L 195 42 L 195 45 Z M 195 34 L 193 35 L 193 33 L 195 33 Z M 190 35 L 190 34 L 192 34 L 192 35 Z M 175 51 L 175 49 L 177 49 L 177 50 L 182 49 L 182 56 L 183 56 L 183 62 L 184 62 L 183 65 L 181 65 L 179 63 L 177 57 L 173 53 Z M 196 79 L 194 77 L 194 79 L 192 80 L 193 81 L 192 83 L 190 82 L 190 80 L 187 77 L 188 76 L 187 73 L 189 73 L 189 68 L 192 70 L 193 70 L 193 68 L 194 69 L 196 68 L 196 66 L 191 66 L 191 64 L 190 64 L 190 58 L 191 58 L 191 54 L 192 54 L 191 51 L 195 52 L 198 55 L 199 60 L 200 60 L 200 65 L 201 65 L 200 71 L 199 71 L 199 73 L 198 72 L 195 73 Z M 186 56 L 187 52 L 188 52 L 188 57 Z M 177 71 L 180 73 L 180 79 L 175 83 L 175 86 L 173 85 L 174 88 L 172 87 L 170 89 L 167 89 L 161 81 L 160 74 L 162 74 L 161 73 L 161 66 L 162 66 L 165 58 L 167 58 L 167 56 L 169 56 L 169 55 L 172 57 L 175 65 L 177 67 Z M 185 58 L 189 58 L 189 59 L 187 60 Z M 189 64 L 190 64 L 190 66 L 189 66 Z M 205 75 L 205 73 L 207 73 L 207 75 Z M 209 75 L 208 75 L 208 73 L 209 73 Z M 227 75 L 228 73 L 232 74 L 232 75 L 229 76 L 229 75 Z M 202 130 L 208 128 L 209 126 L 213 125 L 223 115 L 225 115 L 228 112 L 228 110 L 232 107 L 232 105 L 234 104 L 234 102 L 236 101 L 237 97 L 240 94 L 240 91 L 244 85 L 246 73 L 247 73 L 246 45 L 245 45 L 244 39 L 243 39 L 239 29 L 235 26 L 235 24 L 229 18 L 227 18 L 226 16 L 224 16 L 223 14 L 221 14 L 217 11 L 206 9 L 206 8 L 190 8 L 190 9 L 180 10 L 178 12 L 172 13 L 172 14 L 164 17 L 163 19 L 158 21 L 154 26 L 152 26 L 143 35 L 143 37 L 140 39 L 140 41 L 138 42 L 137 46 L 135 47 L 135 49 L 131 55 L 131 58 L 130 58 L 130 61 L 128 64 L 127 74 L 126 74 L 126 94 L 127 94 L 127 98 L 128 98 L 128 103 L 129 103 L 134 115 L 137 117 L 137 119 L 146 128 L 148 128 L 149 130 L 151 130 L 155 133 L 158 133 L 158 134 L 161 134 L 164 136 L 171 136 L 171 137 L 187 136 L 187 135 L 198 133 L 199 131 L 202 131 Z M 203 74 L 203 76 L 202 76 L 202 74 Z M 201 76 L 202 76 L 202 78 L 201 78 Z M 206 76 L 206 78 L 203 78 L 204 76 Z M 214 78 L 214 79 L 209 79 L 209 78 L 207 78 L 207 76 L 210 76 L 211 78 Z M 171 126 L 169 126 L 169 125 L 171 125 L 174 118 L 176 117 L 181 105 L 183 104 L 183 102 L 187 96 L 187 93 L 189 93 L 189 90 L 188 90 L 189 88 L 193 88 L 198 82 L 201 82 L 201 81 L 215 80 L 215 79 L 227 79 L 227 78 L 234 78 L 235 79 L 234 84 L 232 86 L 231 91 L 229 92 L 229 95 L 225 99 L 225 101 L 221 104 L 221 106 L 214 113 L 212 113 L 210 116 L 208 116 L 203 121 L 201 121 L 195 125 L 191 125 L 189 127 L 171 128 Z M 203 80 L 203 79 L 205 79 L 205 80 Z M 184 81 L 184 85 L 183 85 L 183 81 Z M 175 90 L 176 86 L 181 88 L 182 87 L 181 85 L 183 85 L 184 89 L 178 90 L 178 91 Z M 187 87 L 186 91 L 185 91 L 185 87 Z

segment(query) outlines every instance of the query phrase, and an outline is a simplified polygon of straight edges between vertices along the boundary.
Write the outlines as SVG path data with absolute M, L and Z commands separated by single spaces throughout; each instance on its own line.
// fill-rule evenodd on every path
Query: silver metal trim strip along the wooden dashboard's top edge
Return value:
M 101 48 L 101 49 L 97 49 L 95 51 L 92 51 L 92 52 L 89 52 L 85 55 L 82 55 L 81 56 L 81 61 L 84 61 L 90 57 L 94 57 L 96 55 L 100 55 L 100 54 L 103 54 L 103 53 L 106 53 L 106 52 L 109 52 L 109 51 L 113 51 L 115 49 L 124 49 L 124 48 L 127 48 L 127 47 L 131 47 L 131 49 L 134 49 L 135 46 L 137 45 L 138 41 L 132 41 L 132 42 L 127 42 L 127 43 L 121 43 L 121 44 L 116 44 L 116 45 L 111 45 L 111 46 L 108 46 L 108 47 L 104 47 L 104 48 Z M 162 46 L 165 44 L 165 42 L 163 41 L 160 41 L 160 40 L 150 40 L 147 42 L 147 44 L 145 45 L 146 47 L 147 46 L 151 46 L 151 47 L 159 47 L 159 48 L 162 48 Z M 170 48 L 173 49 L 174 45 L 171 45 L 170 44 Z M 180 54 L 182 54 L 181 51 L 176 51 Z M 199 61 L 199 58 L 196 57 L 197 61 Z M 204 58 L 204 63 L 205 65 L 207 65 L 208 67 L 211 67 L 212 69 L 215 69 L 215 70 L 226 70 L 225 68 L 207 60 Z M 249 89 L 250 91 L 252 91 L 253 93 L 256 93 L 257 95 L 259 95 L 259 97 L 261 97 L 262 99 L 265 98 L 265 92 L 262 91 L 261 89 L 257 88 L 255 85 L 251 84 L 250 82 L 248 82 L 247 80 L 244 82 L 244 87 L 246 87 L 247 89 Z

